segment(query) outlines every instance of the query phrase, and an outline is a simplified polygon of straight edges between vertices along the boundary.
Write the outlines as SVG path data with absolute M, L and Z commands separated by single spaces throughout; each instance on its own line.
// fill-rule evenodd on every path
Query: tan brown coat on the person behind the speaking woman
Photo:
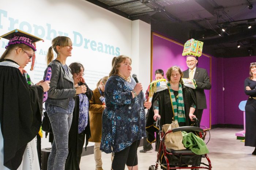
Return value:
M 101 93 L 99 93 L 98 87 L 93 90 L 93 97 L 90 100 L 90 127 L 91 127 L 91 138 L 89 142 L 101 142 L 102 134 L 102 112 L 104 105 L 102 105 Z

